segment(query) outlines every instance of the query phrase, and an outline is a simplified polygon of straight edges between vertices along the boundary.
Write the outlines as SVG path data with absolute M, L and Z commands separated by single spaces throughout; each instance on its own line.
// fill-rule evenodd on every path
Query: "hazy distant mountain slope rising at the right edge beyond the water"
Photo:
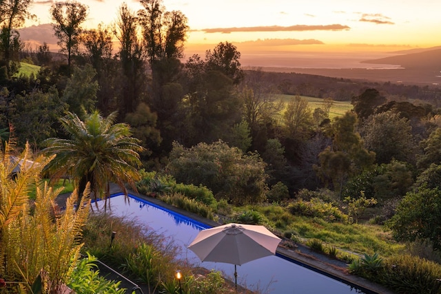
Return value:
M 404 67 L 407 70 L 424 69 L 431 71 L 433 70 L 434 72 L 440 72 L 441 47 L 435 47 L 435 48 L 438 49 L 384 57 L 382 59 L 371 59 L 367 61 L 361 61 L 361 63 L 400 65 L 401 67 Z

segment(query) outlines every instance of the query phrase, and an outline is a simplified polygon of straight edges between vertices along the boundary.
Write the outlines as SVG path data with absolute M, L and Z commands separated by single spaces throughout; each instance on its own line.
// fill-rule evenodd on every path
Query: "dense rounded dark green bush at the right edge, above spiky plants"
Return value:
M 387 222 L 393 237 L 401 241 L 429 238 L 434 249 L 441 249 L 441 196 L 438 188 L 420 187 L 406 194 Z

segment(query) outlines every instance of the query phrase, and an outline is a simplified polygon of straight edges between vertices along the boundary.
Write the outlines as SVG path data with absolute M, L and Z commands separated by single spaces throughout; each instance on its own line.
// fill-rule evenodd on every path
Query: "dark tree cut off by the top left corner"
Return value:
M 18 61 L 21 42 L 17 28 L 25 22 L 25 19 L 34 17 L 28 8 L 32 0 L 1 0 L 0 1 L 0 67 L 6 68 L 8 78 L 14 74 L 14 68 L 10 61 Z M 12 64 L 14 65 L 14 64 Z

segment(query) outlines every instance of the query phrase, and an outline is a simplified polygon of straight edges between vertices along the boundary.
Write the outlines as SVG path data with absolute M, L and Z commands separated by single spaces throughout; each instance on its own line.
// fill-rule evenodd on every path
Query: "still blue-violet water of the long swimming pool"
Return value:
M 145 224 L 157 233 L 172 238 L 182 246 L 182 256 L 205 269 L 222 271 L 225 277 L 234 281 L 234 265 L 220 262 L 201 262 L 187 246 L 199 231 L 209 228 L 186 216 L 159 207 L 156 204 L 130 196 L 127 203 L 124 196 L 113 196 L 110 200 L 112 212 L 117 216 L 127 216 Z M 280 294 L 346 294 L 365 293 L 331 277 L 307 269 L 280 256 L 260 258 L 237 266 L 238 284 L 260 293 Z

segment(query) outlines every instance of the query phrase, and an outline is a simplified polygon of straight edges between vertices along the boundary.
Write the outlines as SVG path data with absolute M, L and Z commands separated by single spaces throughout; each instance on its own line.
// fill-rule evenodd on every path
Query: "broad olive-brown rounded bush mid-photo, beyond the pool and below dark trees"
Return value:
M 223 141 L 185 148 L 174 143 L 167 170 L 178 182 L 204 185 L 216 198 L 236 204 L 262 202 L 267 185 L 265 163 L 258 154 L 245 155 Z

